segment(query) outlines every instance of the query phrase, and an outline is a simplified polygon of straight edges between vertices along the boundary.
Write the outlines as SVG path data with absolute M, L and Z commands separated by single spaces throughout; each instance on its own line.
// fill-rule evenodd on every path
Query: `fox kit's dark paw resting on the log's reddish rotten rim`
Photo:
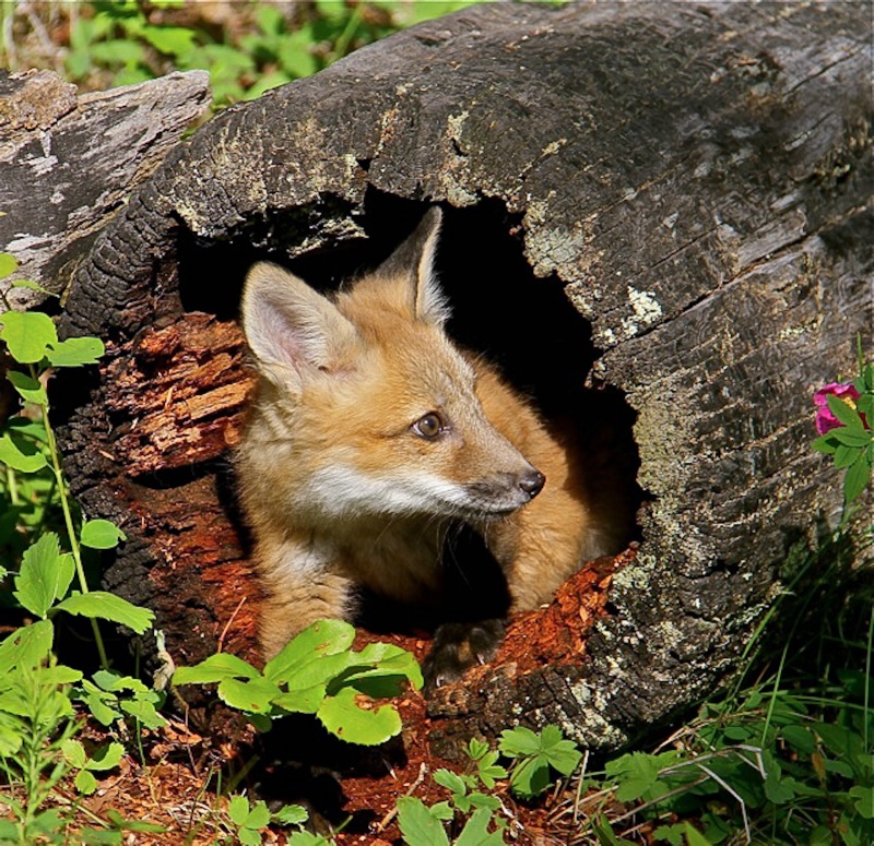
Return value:
M 504 620 L 447 622 L 438 627 L 422 667 L 425 690 L 458 681 L 474 665 L 494 660 L 503 639 Z

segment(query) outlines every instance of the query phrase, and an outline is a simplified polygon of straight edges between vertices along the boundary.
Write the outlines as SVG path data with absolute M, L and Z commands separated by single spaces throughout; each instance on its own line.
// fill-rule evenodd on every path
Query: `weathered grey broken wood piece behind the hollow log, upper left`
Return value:
M 209 104 L 204 71 L 79 97 L 50 71 L 0 73 L 0 249 L 19 259 L 21 276 L 60 294 L 130 190 Z M 11 295 L 20 308 L 44 299 Z

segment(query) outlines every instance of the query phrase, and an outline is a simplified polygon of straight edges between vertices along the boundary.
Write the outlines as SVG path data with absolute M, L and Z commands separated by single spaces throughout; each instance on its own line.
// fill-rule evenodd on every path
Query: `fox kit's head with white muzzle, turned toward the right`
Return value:
M 543 487 L 445 332 L 439 227 L 435 207 L 332 300 L 274 264 L 249 272 L 243 326 L 261 379 L 241 456 L 277 509 L 488 520 Z

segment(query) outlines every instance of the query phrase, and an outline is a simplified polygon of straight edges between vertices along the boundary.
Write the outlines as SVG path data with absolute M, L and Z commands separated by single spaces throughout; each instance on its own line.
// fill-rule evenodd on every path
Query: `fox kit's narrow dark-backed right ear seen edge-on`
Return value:
M 379 273 L 409 279 L 410 308 L 416 320 L 441 326 L 449 303 L 434 272 L 442 212 L 432 206 L 413 234 L 380 265 Z

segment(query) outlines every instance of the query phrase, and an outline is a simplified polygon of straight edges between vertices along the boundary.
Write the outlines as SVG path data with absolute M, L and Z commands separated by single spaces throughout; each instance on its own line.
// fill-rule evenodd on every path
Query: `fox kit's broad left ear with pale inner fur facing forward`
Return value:
M 357 336 L 330 300 L 269 262 L 249 271 L 240 310 L 258 369 L 286 388 L 299 388 L 308 372 L 342 366 Z

